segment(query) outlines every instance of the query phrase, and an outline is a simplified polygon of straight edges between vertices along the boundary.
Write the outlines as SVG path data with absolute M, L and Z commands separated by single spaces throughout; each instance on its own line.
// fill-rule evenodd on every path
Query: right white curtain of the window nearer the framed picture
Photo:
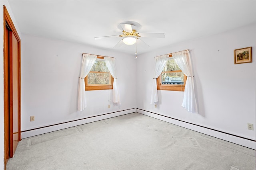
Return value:
M 182 107 L 191 113 L 198 113 L 195 92 L 194 92 L 194 76 L 192 72 L 192 64 L 190 60 L 190 54 L 188 50 L 172 53 L 172 57 L 187 76 L 184 98 Z

